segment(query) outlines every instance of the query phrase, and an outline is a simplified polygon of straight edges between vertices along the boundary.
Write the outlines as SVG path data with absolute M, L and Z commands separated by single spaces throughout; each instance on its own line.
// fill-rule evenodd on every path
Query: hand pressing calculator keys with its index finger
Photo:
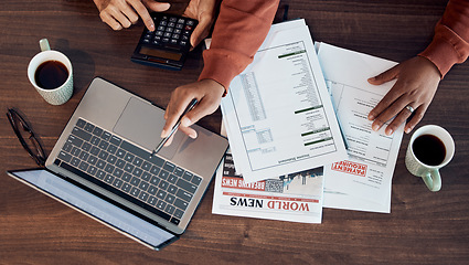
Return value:
M 147 8 L 162 12 L 170 8 L 167 2 L 153 0 L 94 0 L 99 17 L 113 30 L 121 30 L 137 23 L 140 17 L 149 31 L 154 31 L 154 22 Z

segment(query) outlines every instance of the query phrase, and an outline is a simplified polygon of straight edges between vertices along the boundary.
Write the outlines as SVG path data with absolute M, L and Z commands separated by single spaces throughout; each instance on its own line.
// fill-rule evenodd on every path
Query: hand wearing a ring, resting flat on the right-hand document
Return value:
M 429 60 L 415 56 L 370 78 L 369 83 L 381 85 L 392 80 L 397 81 L 370 112 L 369 119 L 374 120 L 372 129 L 379 130 L 387 120 L 395 117 L 385 129 L 386 135 L 392 135 L 411 117 L 412 113 L 406 107 L 409 106 L 414 109 L 414 116 L 404 128 L 404 131 L 408 134 L 424 117 L 438 88 L 441 75 Z

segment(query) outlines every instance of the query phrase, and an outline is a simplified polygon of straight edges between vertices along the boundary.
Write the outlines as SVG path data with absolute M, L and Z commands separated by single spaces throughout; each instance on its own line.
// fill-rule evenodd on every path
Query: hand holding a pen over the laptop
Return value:
M 199 103 L 194 108 L 192 108 L 192 110 L 182 117 L 179 129 L 189 137 L 196 138 L 196 131 L 189 126 L 193 125 L 202 117 L 214 113 L 218 108 L 224 93 L 225 88 L 213 80 L 202 80 L 177 87 L 171 94 L 171 98 L 164 113 L 164 119 L 167 121 L 163 130 L 161 131 L 161 138 L 169 135 L 171 128 L 175 125 L 179 117 L 193 98 L 196 98 Z M 171 141 L 172 137 L 164 146 L 171 145 Z

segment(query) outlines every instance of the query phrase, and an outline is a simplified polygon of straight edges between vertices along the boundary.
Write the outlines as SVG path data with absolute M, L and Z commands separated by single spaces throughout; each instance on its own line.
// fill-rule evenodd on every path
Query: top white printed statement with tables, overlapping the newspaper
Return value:
M 305 20 L 273 25 L 222 99 L 236 170 L 247 183 L 348 158 Z

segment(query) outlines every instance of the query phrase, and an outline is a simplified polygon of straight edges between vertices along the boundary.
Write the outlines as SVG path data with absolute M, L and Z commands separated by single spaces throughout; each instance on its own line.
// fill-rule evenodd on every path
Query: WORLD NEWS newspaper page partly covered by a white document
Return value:
M 246 183 L 226 153 L 215 178 L 212 213 L 321 223 L 322 167 Z

